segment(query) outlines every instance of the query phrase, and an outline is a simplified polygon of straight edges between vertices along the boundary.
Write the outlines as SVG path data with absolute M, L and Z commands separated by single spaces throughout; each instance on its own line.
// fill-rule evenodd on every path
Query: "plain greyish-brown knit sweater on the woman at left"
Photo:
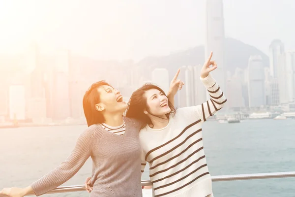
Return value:
M 91 156 L 90 197 L 142 197 L 139 123 L 124 118 L 123 135 L 92 125 L 78 138 L 71 155 L 57 168 L 31 184 L 36 196 L 69 180 Z M 82 180 L 81 180 L 82 181 Z

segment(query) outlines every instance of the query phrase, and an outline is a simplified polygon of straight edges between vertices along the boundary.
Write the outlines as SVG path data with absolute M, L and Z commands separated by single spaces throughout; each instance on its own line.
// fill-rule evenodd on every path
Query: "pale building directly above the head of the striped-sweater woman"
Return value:
M 151 73 L 152 83 L 158 85 L 166 94 L 169 90 L 169 72 L 166 68 L 155 68 Z

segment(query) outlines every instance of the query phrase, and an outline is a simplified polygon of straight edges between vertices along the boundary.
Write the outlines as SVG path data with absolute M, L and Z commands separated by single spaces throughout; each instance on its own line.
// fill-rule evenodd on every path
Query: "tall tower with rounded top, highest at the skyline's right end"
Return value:
M 275 39 L 269 45 L 269 64 L 270 76 L 278 77 L 278 68 L 280 66 L 279 57 L 284 53 L 284 44 L 281 40 Z

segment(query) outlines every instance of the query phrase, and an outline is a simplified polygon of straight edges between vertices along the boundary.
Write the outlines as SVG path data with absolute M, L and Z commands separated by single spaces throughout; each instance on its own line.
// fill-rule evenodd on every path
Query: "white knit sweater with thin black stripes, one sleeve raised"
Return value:
M 201 81 L 211 99 L 177 109 L 162 129 L 147 125 L 140 131 L 142 172 L 148 163 L 155 197 L 212 196 L 202 124 L 223 107 L 226 98 L 210 74 Z

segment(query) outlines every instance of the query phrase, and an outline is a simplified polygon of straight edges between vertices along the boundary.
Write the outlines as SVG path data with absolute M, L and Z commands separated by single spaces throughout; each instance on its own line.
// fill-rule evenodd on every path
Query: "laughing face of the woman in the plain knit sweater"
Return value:
M 127 104 L 123 100 L 120 91 L 111 86 L 103 85 L 97 88 L 100 102 L 95 105 L 96 109 L 102 109 L 108 113 L 123 113 L 127 109 Z

